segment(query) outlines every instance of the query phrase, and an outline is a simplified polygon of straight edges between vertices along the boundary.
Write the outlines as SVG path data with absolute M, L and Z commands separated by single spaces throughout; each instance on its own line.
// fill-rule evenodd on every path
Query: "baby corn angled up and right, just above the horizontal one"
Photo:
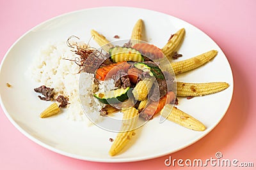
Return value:
M 213 59 L 217 55 L 217 53 L 218 52 L 216 50 L 211 50 L 209 52 L 202 53 L 200 55 L 197 55 L 196 57 L 192 57 L 187 60 L 172 62 L 171 65 L 175 75 L 177 75 L 180 73 L 191 71 L 193 69 L 196 69 L 197 67 L 204 65 L 205 63 Z

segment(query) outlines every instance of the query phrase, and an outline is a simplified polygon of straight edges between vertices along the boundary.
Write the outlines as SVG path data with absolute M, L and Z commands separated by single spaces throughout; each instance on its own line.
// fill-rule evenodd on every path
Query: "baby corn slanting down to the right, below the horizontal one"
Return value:
M 172 104 L 166 104 L 160 113 L 168 120 L 188 129 L 192 129 L 194 131 L 204 131 L 206 129 L 202 122 L 191 117 L 184 111 L 177 109 L 175 106 L 172 106 Z

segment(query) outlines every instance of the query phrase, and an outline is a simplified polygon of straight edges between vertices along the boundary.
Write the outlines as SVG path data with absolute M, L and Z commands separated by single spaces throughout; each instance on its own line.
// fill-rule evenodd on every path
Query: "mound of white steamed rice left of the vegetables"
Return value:
M 68 119 L 88 120 L 85 111 L 93 121 L 99 122 L 102 118 L 99 115 L 102 106 L 95 103 L 93 98 L 93 74 L 83 73 L 83 78 L 79 82 L 79 66 L 74 61 L 65 60 L 79 57 L 70 50 L 72 48 L 68 47 L 66 42 L 49 44 L 35 56 L 29 73 L 33 80 L 41 85 L 54 88 L 54 92 L 57 92 L 56 97 L 68 97 L 70 104 L 65 108 Z

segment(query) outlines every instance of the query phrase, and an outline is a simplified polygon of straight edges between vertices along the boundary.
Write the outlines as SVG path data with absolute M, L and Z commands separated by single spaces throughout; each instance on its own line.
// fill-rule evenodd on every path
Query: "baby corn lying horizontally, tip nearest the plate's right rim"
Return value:
M 211 83 L 183 83 L 177 82 L 177 96 L 204 96 L 220 92 L 229 87 L 225 82 L 211 82 Z

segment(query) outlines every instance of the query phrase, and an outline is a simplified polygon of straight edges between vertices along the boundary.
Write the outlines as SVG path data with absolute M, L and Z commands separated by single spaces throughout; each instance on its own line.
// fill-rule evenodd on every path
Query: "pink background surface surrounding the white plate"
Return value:
M 132 6 L 160 11 L 185 20 L 208 34 L 221 47 L 234 74 L 234 96 L 220 124 L 195 144 L 170 154 L 173 159 L 223 159 L 253 162 L 256 167 L 255 27 L 256 1 L 0 1 L 0 60 L 26 31 L 63 13 L 98 6 Z M 1 88 L 1 87 L 0 87 Z M 218 107 L 218 106 L 216 106 Z M 20 108 L 22 109 L 22 108 Z M 157 159 L 108 164 L 65 157 L 37 145 L 21 134 L 0 108 L 0 169 L 180 169 Z M 228 167 L 211 167 L 230 169 Z M 188 169 L 200 169 L 188 167 Z M 202 167 L 205 169 L 205 167 Z M 242 169 L 241 167 L 239 169 Z

